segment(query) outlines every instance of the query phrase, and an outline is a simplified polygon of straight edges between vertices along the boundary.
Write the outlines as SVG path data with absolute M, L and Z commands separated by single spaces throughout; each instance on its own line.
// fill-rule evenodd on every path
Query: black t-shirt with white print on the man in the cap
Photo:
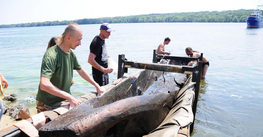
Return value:
M 104 68 L 108 68 L 108 52 L 105 41 L 102 40 L 98 35 L 95 36 L 89 46 L 90 52 L 97 55 L 95 61 Z M 103 74 L 102 71 L 92 66 L 92 74 L 98 75 Z

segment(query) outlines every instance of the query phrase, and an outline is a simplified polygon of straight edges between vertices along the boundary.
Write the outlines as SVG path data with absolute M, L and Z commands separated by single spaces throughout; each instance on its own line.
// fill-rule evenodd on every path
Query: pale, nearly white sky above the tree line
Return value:
M 257 5 L 263 5 L 263 0 L 0 0 L 0 25 L 152 13 L 248 10 L 256 9 Z

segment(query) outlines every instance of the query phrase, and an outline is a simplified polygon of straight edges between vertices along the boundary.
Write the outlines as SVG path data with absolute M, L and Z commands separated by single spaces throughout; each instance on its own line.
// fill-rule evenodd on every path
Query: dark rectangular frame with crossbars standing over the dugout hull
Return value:
M 178 66 L 178 65 L 169 65 L 169 64 L 160 64 L 161 59 L 172 59 L 172 60 L 180 60 L 180 61 L 197 61 L 194 66 Z M 138 68 L 138 69 L 148 69 L 155 71 L 166 71 L 166 72 L 174 72 L 174 73 L 183 73 L 192 75 L 192 82 L 195 82 L 195 97 L 193 101 L 192 111 L 194 115 L 193 123 L 190 125 L 190 133 L 193 132 L 193 125 L 195 120 L 195 113 L 197 107 L 198 93 L 201 82 L 201 72 L 202 72 L 202 61 L 203 53 L 201 56 L 196 57 L 176 57 L 176 56 L 166 56 L 166 55 L 158 55 L 156 50 L 153 50 L 153 63 L 144 63 L 144 62 L 132 62 L 128 61 L 125 58 L 125 55 L 119 55 L 118 59 L 118 76 L 117 78 L 121 78 L 124 76 L 124 73 L 128 73 L 128 68 Z

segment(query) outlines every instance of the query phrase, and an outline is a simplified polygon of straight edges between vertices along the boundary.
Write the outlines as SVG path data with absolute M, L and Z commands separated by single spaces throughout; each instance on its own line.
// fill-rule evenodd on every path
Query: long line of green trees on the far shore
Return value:
M 71 22 L 77 24 L 102 24 L 108 23 L 153 23 L 153 22 L 246 22 L 246 17 L 253 10 L 224 10 L 224 11 L 200 11 L 183 13 L 163 13 L 148 15 L 132 15 L 118 17 L 102 17 L 94 19 L 46 21 L 21 24 L 0 25 L 0 28 L 12 27 L 40 27 L 40 26 L 59 26 L 68 25 Z

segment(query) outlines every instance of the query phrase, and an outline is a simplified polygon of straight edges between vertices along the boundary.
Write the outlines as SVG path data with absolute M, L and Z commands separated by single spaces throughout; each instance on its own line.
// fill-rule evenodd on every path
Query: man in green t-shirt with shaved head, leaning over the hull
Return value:
M 58 44 L 49 48 L 44 54 L 36 97 L 37 113 L 65 100 L 68 100 L 73 107 L 81 103 L 69 93 L 74 69 L 96 87 L 99 95 L 103 93 L 103 89 L 81 68 L 75 53 L 70 50 L 75 50 L 81 45 L 81 39 L 82 30 L 79 25 L 70 23 L 58 39 Z

